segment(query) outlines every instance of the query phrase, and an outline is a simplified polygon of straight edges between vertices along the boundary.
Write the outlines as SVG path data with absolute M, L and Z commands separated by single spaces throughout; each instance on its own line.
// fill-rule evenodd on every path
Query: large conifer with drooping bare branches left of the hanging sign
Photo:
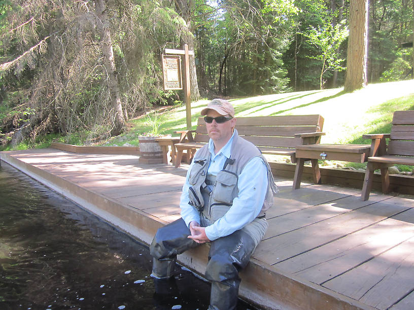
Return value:
M 0 131 L 16 144 L 119 133 L 163 100 L 160 54 L 186 33 L 174 10 L 146 0 L 3 0 L 0 10 Z

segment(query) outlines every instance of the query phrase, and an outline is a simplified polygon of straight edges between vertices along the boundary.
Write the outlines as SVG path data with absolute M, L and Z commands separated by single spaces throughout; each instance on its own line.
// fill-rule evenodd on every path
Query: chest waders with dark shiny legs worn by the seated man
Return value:
M 204 186 L 201 186 L 200 189 L 201 199 L 199 198 L 198 201 L 203 202 L 203 208 L 199 212 L 200 224 L 205 227 L 221 218 L 231 205 L 227 203 L 211 205 L 209 203 L 217 186 L 217 177 L 207 175 L 203 183 Z M 216 196 L 220 198 L 220 194 Z M 253 225 L 257 225 L 257 222 L 261 224 L 259 235 L 263 237 L 267 228 L 265 219 L 256 219 L 247 226 L 253 223 Z M 236 308 L 240 284 L 238 272 L 246 267 L 258 244 L 256 238 L 252 238 L 249 232 L 251 231 L 246 231 L 243 228 L 229 236 L 211 242 L 209 262 L 204 275 L 212 283 L 209 309 L 228 310 Z M 183 219 L 176 220 L 158 229 L 150 248 L 151 255 L 154 257 L 153 277 L 170 278 L 173 276 L 177 255 L 198 246 L 198 243 L 187 238 L 190 234 L 190 229 Z

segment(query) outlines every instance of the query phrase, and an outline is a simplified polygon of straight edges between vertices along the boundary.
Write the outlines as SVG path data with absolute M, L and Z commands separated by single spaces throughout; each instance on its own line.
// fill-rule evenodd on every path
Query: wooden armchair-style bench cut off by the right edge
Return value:
M 388 167 L 395 164 L 414 165 L 414 110 L 395 111 L 391 134 L 363 135 L 371 139 L 368 164 L 362 186 L 361 199 L 368 200 L 375 169 L 381 170 L 382 190 L 390 191 Z M 387 146 L 386 139 L 389 138 Z

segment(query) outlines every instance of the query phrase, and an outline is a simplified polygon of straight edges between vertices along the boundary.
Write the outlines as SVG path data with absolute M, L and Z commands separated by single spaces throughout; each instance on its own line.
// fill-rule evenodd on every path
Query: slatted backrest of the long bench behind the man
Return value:
M 295 134 L 321 132 L 323 122 L 321 115 L 240 117 L 237 118 L 236 129 L 240 136 L 255 144 L 264 153 L 292 151 L 301 145 L 301 138 L 295 138 Z M 209 141 L 203 118 L 198 119 L 194 141 Z

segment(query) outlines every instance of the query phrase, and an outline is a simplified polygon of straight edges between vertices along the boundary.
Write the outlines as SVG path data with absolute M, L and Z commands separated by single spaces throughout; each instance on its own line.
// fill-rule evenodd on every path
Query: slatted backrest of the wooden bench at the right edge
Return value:
M 388 154 L 414 156 L 414 110 L 394 112 Z

